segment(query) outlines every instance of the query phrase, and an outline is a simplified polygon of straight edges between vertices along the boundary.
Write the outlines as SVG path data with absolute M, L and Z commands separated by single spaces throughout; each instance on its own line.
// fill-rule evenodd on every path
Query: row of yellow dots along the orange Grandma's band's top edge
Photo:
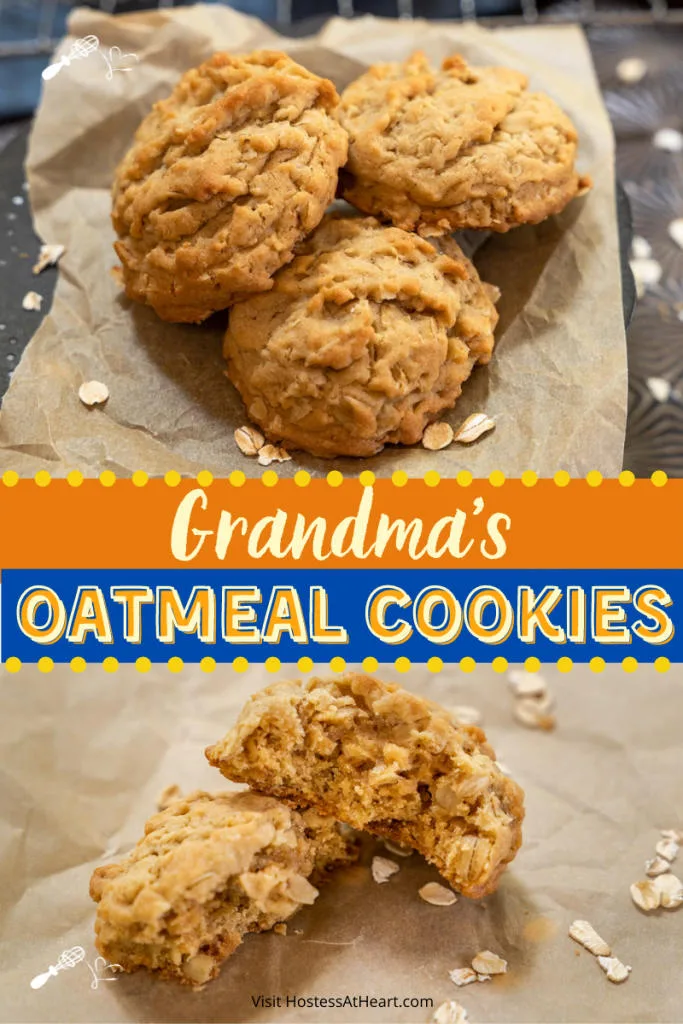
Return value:
M 215 477 L 208 469 L 200 470 L 195 476 L 190 474 L 182 475 L 175 469 L 168 470 L 163 476 L 151 477 L 144 470 L 135 470 L 125 476 L 117 476 L 117 474 L 111 470 L 103 470 L 98 477 L 84 477 L 83 473 L 78 469 L 73 469 L 67 473 L 66 477 L 52 476 L 46 469 L 40 469 L 33 476 L 22 477 L 13 469 L 5 470 L 5 472 L 0 476 L 0 482 L 5 487 L 14 487 L 20 481 L 31 481 L 40 488 L 49 486 L 52 480 L 65 479 L 67 483 L 72 487 L 80 487 L 81 484 L 86 479 L 98 479 L 103 487 L 112 487 L 118 480 L 129 480 L 136 487 L 144 487 L 146 483 L 153 480 L 163 480 L 168 487 L 177 487 L 183 480 L 195 480 L 201 487 L 210 487 L 214 480 L 220 483 L 229 483 L 233 487 L 242 487 L 247 482 L 248 479 L 259 480 L 266 487 L 274 486 L 281 479 L 288 479 L 288 477 L 281 477 L 276 470 L 267 469 L 260 476 L 248 477 L 246 473 L 241 469 L 232 470 L 225 477 Z M 297 470 L 291 477 L 295 484 L 299 487 L 306 487 L 312 481 L 310 473 L 305 469 Z M 338 487 L 345 480 L 355 480 L 360 483 L 364 487 L 371 487 L 377 482 L 377 476 L 369 469 L 360 470 L 357 476 L 347 475 L 344 476 L 337 469 L 331 470 L 325 477 L 321 479 L 327 480 L 329 486 Z M 380 478 L 384 480 L 384 477 Z M 444 479 L 436 470 L 428 469 L 422 476 L 409 476 L 408 473 L 402 469 L 394 470 L 390 476 L 386 477 L 394 487 L 404 487 L 407 483 L 411 480 L 422 480 L 426 483 L 428 487 L 435 487 L 439 482 Z M 475 477 L 469 472 L 469 470 L 462 469 L 454 477 L 445 477 L 446 480 L 453 480 L 461 487 L 469 487 L 474 481 Z M 586 473 L 584 476 L 571 476 L 565 469 L 559 469 L 556 473 L 549 477 L 540 477 L 536 470 L 527 469 L 524 470 L 518 477 L 507 477 L 505 473 L 500 469 L 495 469 L 488 474 L 486 478 L 478 479 L 478 482 L 488 482 L 494 487 L 503 487 L 506 483 L 521 483 L 524 487 L 532 488 L 538 483 L 553 482 L 558 487 L 566 487 L 570 483 L 585 482 L 592 488 L 599 487 L 602 483 L 610 482 L 614 480 L 620 483 L 623 487 L 631 487 L 634 483 L 640 480 L 649 479 L 649 482 L 654 487 L 664 487 L 669 483 L 669 475 L 663 469 L 656 469 L 649 477 L 636 477 L 630 469 L 623 470 L 616 477 L 603 477 L 602 473 L 597 469 L 592 469 L 590 472 Z

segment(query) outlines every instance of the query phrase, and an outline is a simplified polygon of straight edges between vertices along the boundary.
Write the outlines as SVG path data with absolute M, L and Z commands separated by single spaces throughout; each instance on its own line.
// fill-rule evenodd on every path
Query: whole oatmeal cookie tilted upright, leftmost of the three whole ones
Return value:
M 284 53 L 216 53 L 137 129 L 114 180 L 126 293 L 199 323 L 270 287 L 334 198 L 337 91 Z

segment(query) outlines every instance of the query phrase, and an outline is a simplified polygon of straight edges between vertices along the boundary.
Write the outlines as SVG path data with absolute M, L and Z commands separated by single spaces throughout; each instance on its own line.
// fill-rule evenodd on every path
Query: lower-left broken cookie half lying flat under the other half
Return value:
M 247 932 L 312 903 L 311 885 L 354 859 L 340 826 L 255 793 L 194 793 L 152 817 L 118 864 L 90 881 L 96 946 L 124 971 L 200 986 Z

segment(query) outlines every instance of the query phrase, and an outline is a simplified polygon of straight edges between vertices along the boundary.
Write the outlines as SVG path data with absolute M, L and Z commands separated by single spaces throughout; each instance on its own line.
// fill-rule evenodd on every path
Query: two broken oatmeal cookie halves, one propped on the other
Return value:
M 521 843 L 522 791 L 483 732 L 369 676 L 269 686 L 206 756 L 252 788 L 172 800 L 92 876 L 97 948 L 122 970 L 201 987 L 357 857 L 353 828 L 418 850 L 474 898 Z

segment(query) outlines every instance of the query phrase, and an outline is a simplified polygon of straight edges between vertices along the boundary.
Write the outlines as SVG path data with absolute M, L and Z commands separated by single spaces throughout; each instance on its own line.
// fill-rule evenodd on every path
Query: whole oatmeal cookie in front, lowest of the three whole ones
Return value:
M 312 455 L 417 443 L 489 360 L 498 290 L 459 247 L 329 216 L 271 291 L 230 310 L 224 353 L 249 418 Z

